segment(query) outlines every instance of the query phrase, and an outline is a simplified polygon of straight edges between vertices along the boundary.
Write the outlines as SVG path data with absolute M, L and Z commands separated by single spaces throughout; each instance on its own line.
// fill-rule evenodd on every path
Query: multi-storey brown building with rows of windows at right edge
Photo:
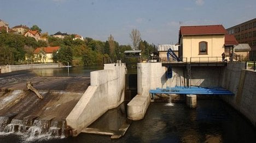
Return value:
M 256 18 L 226 29 L 239 43 L 248 43 L 252 48 L 250 60 L 256 60 Z

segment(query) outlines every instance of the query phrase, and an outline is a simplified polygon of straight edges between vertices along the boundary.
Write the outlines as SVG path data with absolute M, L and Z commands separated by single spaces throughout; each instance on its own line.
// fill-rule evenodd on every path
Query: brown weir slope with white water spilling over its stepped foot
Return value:
M 44 100 L 32 92 L 0 90 L 0 135 L 18 134 L 25 141 L 65 138 L 66 116 L 82 93 L 40 91 Z

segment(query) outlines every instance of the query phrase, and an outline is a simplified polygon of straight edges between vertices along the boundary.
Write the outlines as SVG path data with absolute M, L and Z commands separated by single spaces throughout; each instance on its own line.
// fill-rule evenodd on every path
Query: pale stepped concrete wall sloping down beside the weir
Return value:
M 91 85 L 67 116 L 67 125 L 78 135 L 81 130 L 124 101 L 125 64 L 105 64 L 104 70 L 91 72 Z

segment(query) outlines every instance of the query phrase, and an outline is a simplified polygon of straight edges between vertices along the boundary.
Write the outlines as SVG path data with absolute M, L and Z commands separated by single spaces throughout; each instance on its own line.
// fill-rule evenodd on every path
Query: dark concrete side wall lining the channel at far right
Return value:
M 222 87 L 235 96 L 222 96 L 256 126 L 256 71 L 245 70 L 245 63 L 228 63 L 223 69 Z

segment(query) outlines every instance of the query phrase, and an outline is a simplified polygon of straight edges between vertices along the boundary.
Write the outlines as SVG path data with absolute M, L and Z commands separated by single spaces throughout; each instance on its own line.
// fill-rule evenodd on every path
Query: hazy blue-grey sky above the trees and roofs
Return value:
M 178 42 L 180 26 L 223 24 L 256 18 L 255 0 L 1 0 L 9 27 L 36 24 L 42 33 L 79 34 L 131 45 L 132 29 L 155 45 Z

